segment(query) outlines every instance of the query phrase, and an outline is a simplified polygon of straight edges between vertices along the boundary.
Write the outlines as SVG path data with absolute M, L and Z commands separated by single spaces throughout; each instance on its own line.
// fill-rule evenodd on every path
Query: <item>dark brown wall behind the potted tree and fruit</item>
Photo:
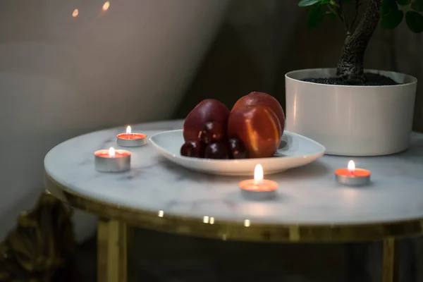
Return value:
M 298 0 L 234 0 L 174 117 L 185 118 L 206 98 L 219 99 L 231 108 L 252 91 L 268 92 L 285 106 L 284 75 L 302 68 L 335 67 L 345 37 L 338 20 L 326 19 L 308 29 L 306 19 L 307 9 L 298 8 Z M 396 30 L 379 27 L 364 66 L 407 73 L 422 81 L 422 39 L 423 35 L 408 30 L 405 21 Z M 420 84 L 414 118 L 414 129 L 419 131 L 423 131 L 422 92 Z

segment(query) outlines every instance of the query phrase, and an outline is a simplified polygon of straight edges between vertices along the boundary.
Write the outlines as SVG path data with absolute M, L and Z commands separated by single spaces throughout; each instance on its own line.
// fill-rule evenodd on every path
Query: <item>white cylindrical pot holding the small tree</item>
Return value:
M 333 68 L 287 73 L 286 129 L 326 147 L 326 154 L 379 156 L 410 145 L 417 79 L 391 71 L 393 86 L 323 85 L 304 78 L 328 78 Z

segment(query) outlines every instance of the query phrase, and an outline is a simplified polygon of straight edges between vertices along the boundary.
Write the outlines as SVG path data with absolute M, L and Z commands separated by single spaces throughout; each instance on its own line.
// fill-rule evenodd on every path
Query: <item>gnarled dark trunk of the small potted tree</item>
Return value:
M 364 51 L 379 23 L 382 0 L 370 0 L 364 16 L 352 34 L 348 34 L 336 68 L 336 75 L 348 84 L 365 81 Z

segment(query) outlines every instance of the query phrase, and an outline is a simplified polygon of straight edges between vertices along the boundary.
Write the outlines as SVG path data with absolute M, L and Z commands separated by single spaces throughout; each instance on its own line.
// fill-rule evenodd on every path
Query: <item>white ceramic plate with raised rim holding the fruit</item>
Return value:
M 193 171 L 224 176 L 251 176 L 256 164 L 262 164 L 265 174 L 278 173 L 309 164 L 321 157 L 325 151 L 325 147 L 316 141 L 288 131 L 283 132 L 281 145 L 274 157 L 262 159 L 219 160 L 183 157 L 180 155 L 180 147 L 184 143 L 181 129 L 152 135 L 150 142 L 169 161 Z

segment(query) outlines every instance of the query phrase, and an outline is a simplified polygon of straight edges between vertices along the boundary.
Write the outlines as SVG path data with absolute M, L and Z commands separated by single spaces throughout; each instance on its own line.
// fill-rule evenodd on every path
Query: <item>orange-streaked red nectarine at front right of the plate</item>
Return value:
M 278 116 L 268 106 L 240 106 L 229 116 L 228 137 L 240 139 L 250 158 L 272 157 L 281 135 Z

